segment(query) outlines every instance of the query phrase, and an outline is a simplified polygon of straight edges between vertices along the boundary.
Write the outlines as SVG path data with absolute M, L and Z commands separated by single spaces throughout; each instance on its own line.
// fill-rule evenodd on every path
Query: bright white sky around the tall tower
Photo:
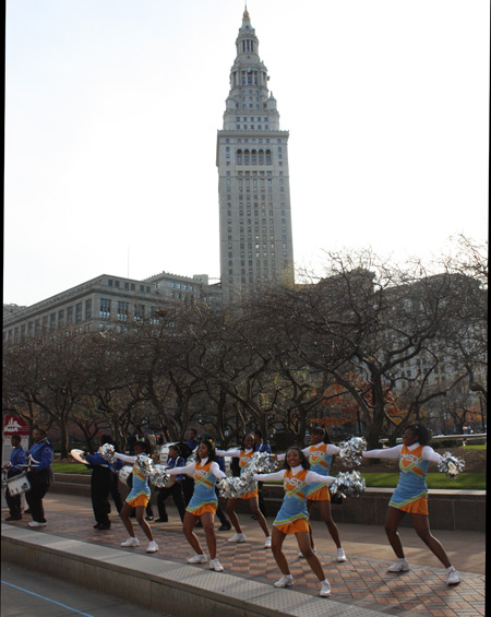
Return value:
M 219 277 L 217 130 L 241 0 L 8 0 L 3 301 Z M 249 0 L 288 130 L 296 266 L 483 242 L 487 0 Z

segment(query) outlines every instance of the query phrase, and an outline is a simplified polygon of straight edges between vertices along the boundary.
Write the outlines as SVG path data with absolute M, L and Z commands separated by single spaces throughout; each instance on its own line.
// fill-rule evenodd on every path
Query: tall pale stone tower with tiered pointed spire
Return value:
M 279 130 L 247 9 L 236 47 L 216 152 L 225 301 L 259 286 L 294 283 L 289 133 Z

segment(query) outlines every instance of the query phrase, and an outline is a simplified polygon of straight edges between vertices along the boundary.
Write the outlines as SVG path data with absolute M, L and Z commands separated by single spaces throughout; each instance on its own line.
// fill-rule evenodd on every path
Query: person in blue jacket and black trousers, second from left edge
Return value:
M 27 452 L 27 479 L 31 490 L 25 494 L 25 499 L 31 510 L 33 520 L 27 523 L 29 527 L 46 526 L 43 497 L 48 493 L 49 485 L 53 482 L 52 454 L 53 449 L 49 443 L 46 431 L 35 428 L 33 431 L 33 446 Z

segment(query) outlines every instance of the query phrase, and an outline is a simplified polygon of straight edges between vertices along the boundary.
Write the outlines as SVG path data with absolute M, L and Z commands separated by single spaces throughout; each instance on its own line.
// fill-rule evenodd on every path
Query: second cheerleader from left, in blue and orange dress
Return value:
M 185 509 L 182 531 L 195 555 L 188 559 L 188 563 L 206 563 L 208 560 L 201 548 L 200 541 L 194 534 L 194 525 L 201 521 L 206 536 L 209 551 L 209 569 L 223 572 L 224 567 L 216 557 L 215 512 L 218 499 L 215 485 L 218 478 L 225 477 L 224 472 L 215 462 L 215 447 L 212 441 L 202 441 L 197 447 L 197 461 L 183 467 L 167 468 L 169 475 L 187 474 L 194 478 L 194 493 Z

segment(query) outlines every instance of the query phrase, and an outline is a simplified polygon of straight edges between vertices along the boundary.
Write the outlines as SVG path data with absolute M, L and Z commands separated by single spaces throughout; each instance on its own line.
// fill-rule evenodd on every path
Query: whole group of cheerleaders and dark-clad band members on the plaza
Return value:
M 432 535 L 429 524 L 428 489 L 426 475 L 431 462 L 441 460 L 430 446 L 430 432 L 421 424 L 408 426 L 403 434 L 403 443 L 394 448 L 363 451 L 362 456 L 393 459 L 399 461 L 399 483 L 394 490 L 387 508 L 385 532 L 396 556 L 396 561 L 390 566 L 388 572 L 400 573 L 409 570 L 404 548 L 397 529 L 403 518 L 409 513 L 412 525 L 435 557 L 447 569 L 447 583 L 457 584 L 460 581 L 457 570 L 452 566 L 447 554 L 441 543 Z M 236 450 L 219 450 L 213 439 L 199 439 L 195 429 L 188 431 L 188 439 L 183 442 L 172 443 L 169 447 L 166 463 L 166 473 L 169 482 L 158 489 L 157 522 L 168 521 L 166 499 L 172 497 L 182 522 L 183 534 L 194 554 L 188 559 L 189 563 L 208 563 L 209 569 L 221 572 L 224 567 L 217 556 L 217 541 L 215 534 L 215 515 L 219 518 L 219 531 L 229 531 L 233 526 L 235 534 L 228 538 L 230 543 L 247 542 L 241 527 L 236 508 L 239 501 L 246 501 L 252 517 L 258 521 L 264 533 L 264 548 L 271 548 L 276 563 L 282 572 L 282 578 L 274 583 L 276 588 L 287 588 L 294 584 L 288 560 L 283 551 L 283 544 L 287 535 L 295 534 L 299 547 L 299 557 L 304 558 L 320 581 L 322 597 L 331 594 L 331 585 L 325 577 L 324 569 L 319 560 L 314 547 L 312 527 L 309 523 L 310 513 L 314 506 L 319 507 L 330 535 L 337 548 L 337 560 L 346 561 L 347 557 L 342 546 L 339 531 L 334 523 L 331 511 L 331 494 L 328 486 L 335 482 L 330 475 L 333 456 L 339 454 L 339 448 L 331 442 L 330 435 L 323 428 L 314 428 L 310 435 L 311 444 L 308 448 L 290 447 L 283 454 L 272 454 L 270 444 L 263 440 L 261 431 L 246 435 L 240 448 Z M 109 463 L 103 455 L 103 446 L 115 446 L 116 462 Z M 128 446 L 128 444 L 127 444 Z M 148 477 L 137 464 L 137 456 L 146 454 L 154 456 L 158 462 L 157 440 L 153 443 L 143 435 L 135 439 L 129 447 L 129 454 L 120 452 L 110 435 L 103 435 L 99 439 L 99 449 L 95 454 L 86 455 L 86 463 L 92 468 L 91 495 L 97 531 L 108 530 L 109 496 L 112 497 L 121 521 L 128 531 L 128 538 L 122 542 L 122 547 L 137 547 L 135 527 L 131 521 L 134 517 L 148 541 L 147 553 L 158 550 L 152 527 L 148 524 L 154 520 L 151 496 L 152 488 Z M 218 500 L 218 486 L 226 477 L 225 456 L 231 456 L 231 470 L 235 475 L 244 473 L 250 467 L 255 452 L 272 454 L 283 468 L 274 473 L 254 474 L 253 489 L 240 498 L 229 498 L 226 514 L 221 511 Z M 25 452 L 20 438 L 12 438 L 12 453 L 8 465 L 8 476 L 15 477 L 23 471 L 27 472 L 31 488 L 25 497 L 32 521 L 29 527 L 41 527 L 47 524 L 43 508 L 43 498 L 52 482 L 51 462 L 53 450 L 46 432 L 35 429 L 33 444 Z M 130 493 L 123 501 L 119 493 L 118 473 L 124 464 L 132 465 L 128 477 Z M 266 511 L 262 497 L 264 482 L 282 482 L 285 497 L 279 511 L 270 529 L 266 521 Z M 10 515 L 7 521 L 22 519 L 21 497 L 10 495 L 7 490 L 7 501 Z M 205 534 L 205 542 L 209 558 L 205 555 L 194 529 L 201 526 Z

